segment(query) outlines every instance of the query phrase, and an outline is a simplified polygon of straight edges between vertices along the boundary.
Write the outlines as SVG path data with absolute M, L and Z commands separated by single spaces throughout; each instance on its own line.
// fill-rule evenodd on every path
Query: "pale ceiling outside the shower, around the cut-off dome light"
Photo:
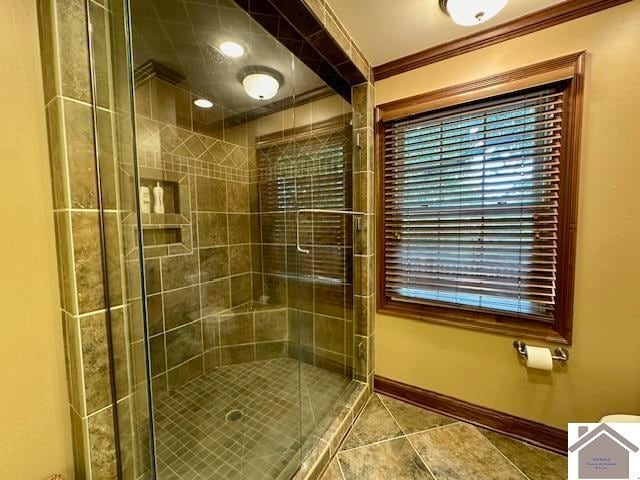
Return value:
M 510 0 L 498 15 L 477 27 L 460 27 L 438 0 L 327 0 L 372 65 L 521 17 L 565 0 Z

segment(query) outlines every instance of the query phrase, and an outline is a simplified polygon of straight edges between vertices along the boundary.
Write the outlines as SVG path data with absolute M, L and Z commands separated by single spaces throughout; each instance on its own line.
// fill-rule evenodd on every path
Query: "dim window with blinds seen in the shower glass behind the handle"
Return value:
M 256 148 L 263 222 L 263 269 L 292 273 L 300 281 L 328 286 L 351 283 L 348 219 L 333 214 L 307 214 L 300 221 L 301 242 L 313 255 L 293 255 L 283 262 L 282 248 L 295 243 L 295 211 L 300 208 L 351 208 L 352 133 L 350 117 L 340 116 L 314 129 L 282 132 L 274 140 L 259 139 Z M 295 249 L 294 249 L 295 250 Z

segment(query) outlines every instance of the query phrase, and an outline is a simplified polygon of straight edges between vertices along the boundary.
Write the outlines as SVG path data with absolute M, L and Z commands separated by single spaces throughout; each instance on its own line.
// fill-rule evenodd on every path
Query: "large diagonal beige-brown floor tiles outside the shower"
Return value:
M 566 478 L 566 457 L 374 394 L 322 480 Z

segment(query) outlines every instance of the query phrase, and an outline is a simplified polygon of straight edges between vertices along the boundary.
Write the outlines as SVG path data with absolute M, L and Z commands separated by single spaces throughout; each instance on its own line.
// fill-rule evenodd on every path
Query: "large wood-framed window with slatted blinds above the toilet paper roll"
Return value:
M 489 97 L 382 107 L 381 310 L 570 341 L 576 68 Z

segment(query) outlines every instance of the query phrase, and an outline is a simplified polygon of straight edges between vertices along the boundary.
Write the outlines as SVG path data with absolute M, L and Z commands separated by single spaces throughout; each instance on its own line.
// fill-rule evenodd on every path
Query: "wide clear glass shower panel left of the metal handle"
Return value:
M 257 150 L 294 123 L 292 55 L 230 1 L 131 0 L 131 25 L 158 478 L 288 478 L 299 363 Z

